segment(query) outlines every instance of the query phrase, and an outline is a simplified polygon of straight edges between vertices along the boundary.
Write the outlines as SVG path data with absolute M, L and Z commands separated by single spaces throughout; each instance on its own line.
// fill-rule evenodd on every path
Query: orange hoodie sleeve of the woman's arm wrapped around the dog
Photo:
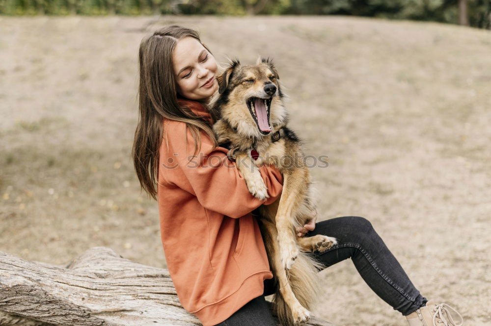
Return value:
M 231 218 L 240 218 L 262 204 L 276 201 L 283 189 L 283 176 L 279 170 L 274 165 L 259 167 L 270 196 L 259 200 L 249 193 L 235 162 L 228 160 L 227 151 L 215 147 L 208 135 L 201 131 L 201 149 L 193 157 L 191 131 L 182 122 L 168 120 L 164 124 L 159 173 L 168 186 L 189 192 L 206 209 Z

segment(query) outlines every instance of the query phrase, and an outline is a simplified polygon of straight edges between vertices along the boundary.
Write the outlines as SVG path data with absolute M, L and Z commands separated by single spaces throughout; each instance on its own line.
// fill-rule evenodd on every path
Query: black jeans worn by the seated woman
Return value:
M 351 258 L 356 270 L 383 301 L 404 316 L 424 306 L 428 301 L 409 280 L 403 268 L 387 249 L 372 224 L 363 217 L 343 216 L 319 222 L 305 236 L 324 234 L 338 244 L 315 257 L 326 268 Z M 264 293 L 218 325 L 275 326 L 264 296 L 274 293 L 273 279 L 264 281 Z

